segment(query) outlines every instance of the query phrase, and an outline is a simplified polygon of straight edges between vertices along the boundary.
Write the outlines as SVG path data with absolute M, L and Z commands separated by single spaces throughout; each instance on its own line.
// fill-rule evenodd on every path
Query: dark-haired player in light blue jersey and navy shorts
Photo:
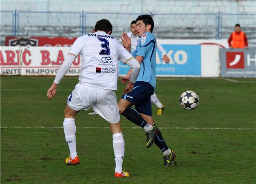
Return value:
M 154 21 L 150 15 L 140 15 L 136 19 L 137 34 L 140 37 L 136 50 L 132 53 L 140 63 L 139 76 L 134 84 L 132 92 L 121 97 L 118 107 L 119 112 L 128 120 L 141 126 L 147 134 L 146 147 L 149 148 L 155 143 L 163 152 L 164 166 L 176 159 L 176 155 L 169 149 L 162 133 L 154 124 L 152 118 L 151 95 L 154 94 L 156 87 L 155 65 L 157 43 L 152 31 Z M 131 51 L 131 41 L 127 34 L 123 34 L 123 45 Z M 131 71 L 121 78 L 124 84 L 130 79 Z M 135 108 L 131 108 L 135 105 Z M 174 161 L 175 162 L 175 161 Z

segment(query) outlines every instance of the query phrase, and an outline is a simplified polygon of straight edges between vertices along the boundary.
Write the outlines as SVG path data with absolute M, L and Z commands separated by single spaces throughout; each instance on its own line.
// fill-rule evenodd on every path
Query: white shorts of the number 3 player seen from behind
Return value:
M 68 97 L 68 106 L 75 111 L 92 108 L 109 123 L 120 121 L 117 96 L 114 90 L 105 90 L 78 83 Z

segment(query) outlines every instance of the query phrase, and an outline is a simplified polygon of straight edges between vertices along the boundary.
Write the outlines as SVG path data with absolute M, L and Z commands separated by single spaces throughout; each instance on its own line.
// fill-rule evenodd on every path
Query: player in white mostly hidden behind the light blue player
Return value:
M 137 34 L 137 30 L 136 30 L 136 21 L 131 22 L 130 30 L 131 30 L 131 32 L 128 32 L 127 35 L 131 39 L 131 43 L 132 43 L 131 53 L 132 53 L 136 50 L 137 44 L 139 43 L 139 40 L 140 40 L 140 38 Z M 122 39 L 119 39 L 118 41 L 120 43 L 123 43 Z M 168 63 L 170 61 L 170 59 L 166 55 L 166 50 L 159 43 L 157 44 L 157 48 L 162 53 L 162 61 L 164 61 L 165 63 Z M 161 101 L 159 101 L 159 99 L 158 99 L 158 97 L 156 96 L 155 93 L 151 95 L 151 102 L 154 103 L 154 105 L 156 105 L 157 108 L 158 108 L 156 114 L 157 115 L 162 115 L 162 111 L 165 110 L 165 106 L 162 105 Z M 95 112 L 90 112 L 89 114 L 92 115 L 92 114 L 95 114 Z

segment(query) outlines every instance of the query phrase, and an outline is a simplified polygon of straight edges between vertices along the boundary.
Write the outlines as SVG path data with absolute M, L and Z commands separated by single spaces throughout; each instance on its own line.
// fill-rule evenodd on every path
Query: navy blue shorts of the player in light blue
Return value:
M 123 94 L 121 98 L 132 102 L 138 112 L 152 116 L 152 94 L 154 94 L 154 87 L 150 83 L 139 81 L 134 84 L 132 92 Z

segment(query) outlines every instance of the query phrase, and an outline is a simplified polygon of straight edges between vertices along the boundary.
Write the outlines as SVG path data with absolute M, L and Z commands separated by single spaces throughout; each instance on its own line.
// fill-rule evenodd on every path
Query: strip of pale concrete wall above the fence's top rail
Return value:
M 61 6 L 60 6 L 61 5 Z M 1 0 L 1 10 L 255 13 L 255 0 Z

